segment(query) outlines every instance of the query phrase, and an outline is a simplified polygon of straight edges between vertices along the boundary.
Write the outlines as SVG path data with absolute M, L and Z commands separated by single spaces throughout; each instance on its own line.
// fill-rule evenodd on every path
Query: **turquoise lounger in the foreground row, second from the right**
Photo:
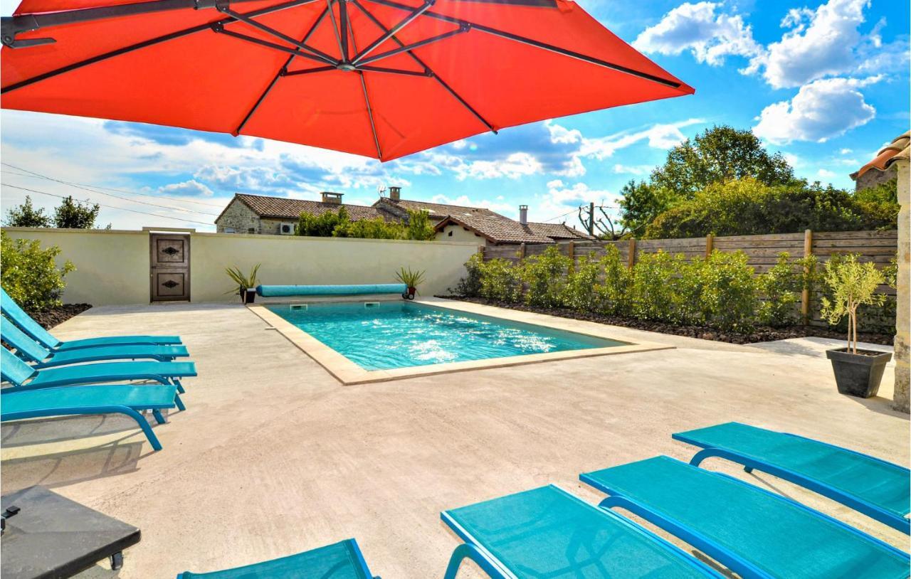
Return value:
M 579 478 L 744 579 L 906 579 L 908 555 L 831 517 L 667 456 Z

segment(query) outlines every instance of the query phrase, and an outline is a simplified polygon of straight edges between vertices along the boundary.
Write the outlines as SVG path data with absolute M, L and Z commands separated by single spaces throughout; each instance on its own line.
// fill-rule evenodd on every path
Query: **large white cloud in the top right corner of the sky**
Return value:
M 815 10 L 792 8 L 782 20 L 785 32 L 742 72 L 762 72 L 775 88 L 802 86 L 818 78 L 868 75 L 906 67 L 907 44 L 884 46 L 877 23 L 862 34 L 870 0 L 829 0 Z

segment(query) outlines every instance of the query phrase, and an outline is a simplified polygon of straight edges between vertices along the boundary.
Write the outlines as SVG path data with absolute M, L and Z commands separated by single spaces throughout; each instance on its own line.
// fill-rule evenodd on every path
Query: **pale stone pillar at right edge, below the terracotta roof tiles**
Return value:
M 896 410 L 909 411 L 908 388 L 911 382 L 909 371 L 909 346 L 911 346 L 911 169 L 906 159 L 893 163 L 898 168 L 898 284 L 896 298 L 896 391 L 893 401 Z

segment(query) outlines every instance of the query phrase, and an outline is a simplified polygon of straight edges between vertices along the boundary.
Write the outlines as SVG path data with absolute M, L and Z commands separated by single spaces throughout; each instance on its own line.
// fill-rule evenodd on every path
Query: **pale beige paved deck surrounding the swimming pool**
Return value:
M 841 396 L 830 340 L 737 346 L 615 328 L 618 340 L 675 349 L 343 386 L 241 306 L 94 308 L 55 333 L 176 333 L 200 372 L 186 381 L 188 410 L 155 427 L 161 452 L 119 417 L 3 425 L 4 493 L 44 484 L 142 530 L 123 569 L 84 577 L 174 577 L 347 537 L 385 579 L 440 577 L 458 544 L 441 510 L 547 483 L 596 503 L 579 472 L 687 459 L 670 433 L 715 422 L 909 462 L 891 364 L 879 397 Z M 706 465 L 907 548 L 906 535 L 793 485 Z

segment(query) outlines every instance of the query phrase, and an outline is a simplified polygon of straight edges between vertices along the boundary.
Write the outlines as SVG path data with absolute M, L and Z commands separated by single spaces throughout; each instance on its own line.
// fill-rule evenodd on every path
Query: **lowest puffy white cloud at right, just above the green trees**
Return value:
M 866 103 L 858 88 L 879 80 L 880 76 L 814 80 L 790 101 L 765 107 L 752 132 L 776 145 L 795 140 L 823 143 L 844 135 L 875 117 L 875 108 Z

